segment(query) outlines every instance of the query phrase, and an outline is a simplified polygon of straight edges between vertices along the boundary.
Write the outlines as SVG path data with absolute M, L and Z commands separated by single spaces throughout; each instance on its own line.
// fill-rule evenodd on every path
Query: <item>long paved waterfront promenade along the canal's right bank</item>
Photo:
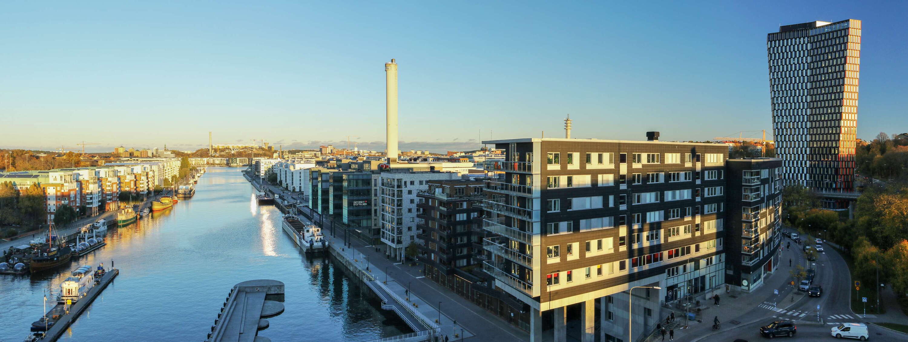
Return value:
M 281 198 L 285 197 L 285 192 L 280 188 L 274 187 L 267 182 L 260 184 L 256 182 L 257 180 L 254 177 L 252 181 L 257 187 L 263 185 L 269 191 L 281 194 Z M 308 207 L 306 209 L 303 219 L 312 218 L 311 212 L 308 212 Z M 309 216 L 309 218 L 305 216 Z M 318 221 L 318 214 L 314 218 L 315 221 Z M 325 236 L 332 244 L 339 247 L 343 246 L 344 232 L 339 230 L 332 236 L 330 222 L 325 222 L 322 232 L 325 233 Z M 375 250 L 378 246 L 367 245 L 359 239 L 350 239 L 350 244 L 350 247 L 342 248 L 342 256 L 359 263 L 363 269 L 368 264 L 370 274 L 380 281 L 387 278 L 386 282 L 383 281 L 385 282 L 385 287 L 389 288 L 400 298 L 407 298 L 409 294 L 411 308 L 415 308 L 428 318 L 439 319 L 442 338 L 443 336 L 448 336 L 449 341 L 459 341 L 461 334 L 463 334 L 467 340 L 501 339 L 524 341 L 529 339 L 526 331 L 510 325 L 486 309 L 479 308 L 469 299 L 462 298 L 448 288 L 444 288 L 431 279 L 426 278 L 422 273 L 421 266 L 408 266 L 396 260 L 386 259 L 383 252 Z M 416 303 L 418 308 L 412 307 L 412 303 Z

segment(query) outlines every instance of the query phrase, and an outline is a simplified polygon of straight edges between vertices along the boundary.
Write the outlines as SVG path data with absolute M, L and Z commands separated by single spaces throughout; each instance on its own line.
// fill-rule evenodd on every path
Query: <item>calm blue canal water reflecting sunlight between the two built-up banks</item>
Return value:
M 107 246 L 35 277 L 0 275 L 0 341 L 21 341 L 43 314 L 44 290 L 81 265 L 120 275 L 69 328 L 72 341 L 202 341 L 238 282 L 286 285 L 281 316 L 259 335 L 285 341 L 363 341 L 410 332 L 369 288 L 329 258 L 307 258 L 281 230 L 281 212 L 259 207 L 237 168 L 208 168 L 192 199 L 108 231 Z

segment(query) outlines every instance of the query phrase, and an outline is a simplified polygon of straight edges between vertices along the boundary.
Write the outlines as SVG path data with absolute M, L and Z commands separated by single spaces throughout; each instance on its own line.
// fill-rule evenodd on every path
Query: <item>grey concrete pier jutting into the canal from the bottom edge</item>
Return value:
M 259 330 L 269 326 L 265 318 L 281 315 L 283 296 L 284 284 L 278 280 L 247 280 L 234 285 L 205 342 L 271 341 L 258 336 Z

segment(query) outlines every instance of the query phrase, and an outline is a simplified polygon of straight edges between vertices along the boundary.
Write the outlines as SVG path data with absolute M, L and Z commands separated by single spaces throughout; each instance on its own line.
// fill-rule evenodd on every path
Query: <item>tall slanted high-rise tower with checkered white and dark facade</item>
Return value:
M 782 179 L 854 188 L 861 21 L 789 24 L 766 35 L 775 151 Z M 830 209 L 847 202 L 826 200 Z

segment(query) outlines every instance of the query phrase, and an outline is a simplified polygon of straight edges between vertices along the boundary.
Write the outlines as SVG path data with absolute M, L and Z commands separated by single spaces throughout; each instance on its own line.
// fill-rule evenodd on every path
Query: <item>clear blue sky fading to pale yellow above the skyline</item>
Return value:
M 908 132 L 905 2 L 2 2 L 0 147 L 382 150 L 772 132 L 765 36 L 863 20 L 858 137 Z M 751 134 L 751 133 L 746 133 Z M 473 141 L 470 141 L 472 139 Z

